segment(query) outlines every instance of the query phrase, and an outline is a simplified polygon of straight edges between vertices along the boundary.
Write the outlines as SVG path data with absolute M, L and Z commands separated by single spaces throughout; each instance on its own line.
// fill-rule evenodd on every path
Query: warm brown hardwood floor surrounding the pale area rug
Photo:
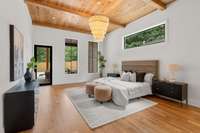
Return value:
M 158 97 L 147 97 L 158 105 L 91 130 L 76 111 L 65 88 L 77 85 L 40 88 L 37 121 L 23 133 L 199 133 L 200 109 L 181 106 Z

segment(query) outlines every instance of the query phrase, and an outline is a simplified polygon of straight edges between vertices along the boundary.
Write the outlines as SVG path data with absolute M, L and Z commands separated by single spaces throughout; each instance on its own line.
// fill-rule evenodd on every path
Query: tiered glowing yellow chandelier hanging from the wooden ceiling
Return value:
M 89 18 L 90 30 L 96 41 L 103 41 L 107 28 L 109 25 L 109 18 L 106 16 L 96 15 Z

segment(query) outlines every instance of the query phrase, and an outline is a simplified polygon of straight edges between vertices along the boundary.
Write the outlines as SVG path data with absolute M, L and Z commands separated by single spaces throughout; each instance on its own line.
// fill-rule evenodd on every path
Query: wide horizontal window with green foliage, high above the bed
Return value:
M 165 24 L 124 37 L 124 49 L 165 42 Z

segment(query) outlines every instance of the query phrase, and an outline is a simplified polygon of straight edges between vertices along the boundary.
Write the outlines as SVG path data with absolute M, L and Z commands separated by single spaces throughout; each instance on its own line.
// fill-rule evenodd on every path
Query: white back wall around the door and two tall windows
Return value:
M 65 38 L 78 40 L 78 74 L 65 74 Z M 53 46 L 53 84 L 85 82 L 99 76 L 88 73 L 88 41 L 92 40 L 88 34 L 33 26 L 33 44 Z

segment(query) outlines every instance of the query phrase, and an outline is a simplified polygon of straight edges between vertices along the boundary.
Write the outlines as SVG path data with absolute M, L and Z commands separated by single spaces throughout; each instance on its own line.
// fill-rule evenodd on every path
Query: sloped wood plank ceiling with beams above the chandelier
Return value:
M 90 34 L 88 18 L 109 17 L 108 32 L 125 27 L 174 0 L 26 0 L 34 25 Z

